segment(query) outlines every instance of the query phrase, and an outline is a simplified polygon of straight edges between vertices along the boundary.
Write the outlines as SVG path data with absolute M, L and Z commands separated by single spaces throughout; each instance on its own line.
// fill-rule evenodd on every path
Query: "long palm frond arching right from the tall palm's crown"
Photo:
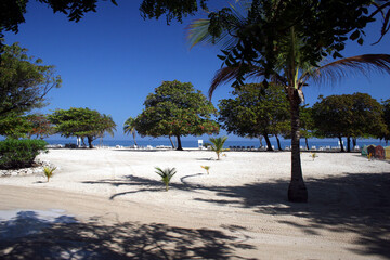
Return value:
M 388 54 L 365 54 L 346 57 L 328 63 L 312 72 L 304 73 L 300 80 L 313 79 L 316 83 L 326 81 L 339 81 L 350 75 L 362 74 L 366 77 L 370 73 L 390 74 L 390 55 Z

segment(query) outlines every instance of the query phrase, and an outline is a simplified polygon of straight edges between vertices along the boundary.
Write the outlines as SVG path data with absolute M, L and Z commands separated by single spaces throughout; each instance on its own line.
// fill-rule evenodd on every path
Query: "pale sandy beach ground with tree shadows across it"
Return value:
M 389 161 L 302 153 L 290 204 L 289 152 L 225 154 L 50 150 L 50 182 L 0 178 L 0 258 L 390 259 Z M 169 192 L 155 167 L 177 168 Z

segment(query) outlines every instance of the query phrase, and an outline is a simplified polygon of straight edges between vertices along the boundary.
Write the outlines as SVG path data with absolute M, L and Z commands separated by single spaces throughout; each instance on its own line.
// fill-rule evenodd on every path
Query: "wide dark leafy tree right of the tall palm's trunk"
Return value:
M 329 95 L 320 100 L 313 105 L 316 131 L 326 138 L 338 138 L 341 152 L 344 152 L 343 136 L 350 152 L 351 138 L 378 136 L 386 129 L 381 105 L 368 94 Z

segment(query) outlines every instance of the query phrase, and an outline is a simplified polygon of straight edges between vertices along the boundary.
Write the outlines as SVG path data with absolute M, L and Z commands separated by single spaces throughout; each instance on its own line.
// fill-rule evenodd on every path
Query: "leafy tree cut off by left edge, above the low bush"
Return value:
M 1 56 L 1 118 L 43 106 L 48 92 L 61 87 L 61 78 L 55 76 L 54 66 L 42 65 L 42 60 L 28 56 L 27 49 L 17 43 L 5 46 Z

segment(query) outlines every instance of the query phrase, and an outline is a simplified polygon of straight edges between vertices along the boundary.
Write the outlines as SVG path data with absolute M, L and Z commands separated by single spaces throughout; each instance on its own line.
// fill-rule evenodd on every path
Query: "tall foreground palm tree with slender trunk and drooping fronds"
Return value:
M 222 28 L 224 30 L 219 34 L 219 37 L 211 36 L 209 25 L 209 20 L 193 22 L 190 26 L 188 36 L 192 46 L 205 41 L 211 43 L 224 42 L 223 49 L 225 50 L 223 54 L 225 55 L 224 63 L 226 66 L 216 73 L 209 89 L 210 99 L 213 91 L 221 83 L 235 80 L 235 86 L 237 86 L 237 83 L 242 83 L 244 76 L 247 79 L 264 79 L 270 76 L 271 81 L 284 87 L 289 101 L 291 119 L 291 180 L 288 187 L 288 199 L 296 203 L 306 203 L 308 200 L 308 191 L 303 182 L 299 148 L 299 108 L 304 102 L 302 87 L 308 86 L 310 79 L 314 80 L 314 82 L 321 82 L 325 79 L 335 80 L 346 77 L 349 72 L 367 73 L 374 69 L 390 73 L 390 55 L 359 55 L 314 67 L 307 58 L 310 50 L 302 48 L 304 43 L 295 31 L 295 27 L 290 26 L 285 38 L 280 39 L 277 42 L 278 55 L 276 61 L 273 61 L 274 67 L 270 72 L 269 67 L 262 66 L 268 56 L 266 53 L 261 54 L 257 51 L 261 49 L 259 47 L 257 47 L 257 50 L 246 52 L 246 55 L 251 55 L 249 58 L 253 57 L 253 52 L 258 56 L 260 55 L 262 60 L 260 58 L 259 62 L 245 62 L 245 56 L 237 57 L 237 53 L 244 53 L 244 43 L 240 36 L 248 34 L 248 30 L 253 27 L 248 15 L 242 15 L 232 8 L 229 27 Z M 253 46 L 250 46 L 250 48 L 253 48 Z M 223 58 L 223 56 L 220 57 Z M 237 61 L 237 58 L 240 60 Z

